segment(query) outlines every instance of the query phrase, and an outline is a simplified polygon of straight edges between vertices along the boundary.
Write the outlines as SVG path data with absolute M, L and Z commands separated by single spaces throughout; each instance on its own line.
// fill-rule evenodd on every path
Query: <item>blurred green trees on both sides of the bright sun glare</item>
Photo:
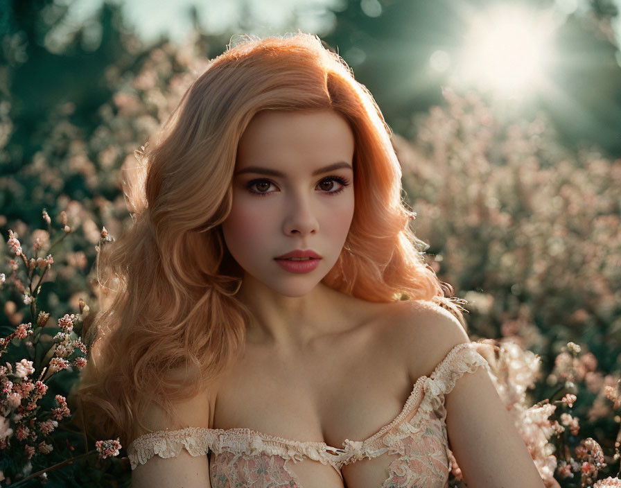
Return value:
M 498 3 L 474 0 L 344 0 L 333 10 L 335 28 L 324 40 L 340 55 L 381 106 L 394 132 L 412 135 L 412 114 L 441 103 L 443 73 L 430 69 L 439 49 L 456 52 L 472 12 Z M 552 0 L 523 0 L 532 8 L 551 8 Z M 592 0 L 590 10 L 574 12 L 557 31 L 561 61 L 551 67 L 555 93 L 535 96 L 530 113 L 543 108 L 563 141 L 578 148 L 596 143 L 621 155 L 621 67 L 611 20 L 611 0 Z M 523 109 L 524 107 L 521 107 Z

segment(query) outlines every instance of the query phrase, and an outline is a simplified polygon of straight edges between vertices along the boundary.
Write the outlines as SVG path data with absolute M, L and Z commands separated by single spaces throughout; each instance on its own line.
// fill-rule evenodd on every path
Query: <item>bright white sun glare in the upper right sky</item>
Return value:
M 471 20 L 457 77 L 497 94 L 519 96 L 545 84 L 554 21 L 545 12 L 498 5 Z

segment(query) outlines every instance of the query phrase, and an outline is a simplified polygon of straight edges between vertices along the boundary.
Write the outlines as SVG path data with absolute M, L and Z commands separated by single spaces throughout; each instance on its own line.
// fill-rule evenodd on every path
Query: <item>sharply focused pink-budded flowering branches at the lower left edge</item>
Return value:
M 101 459 L 116 456 L 121 448 L 118 439 L 98 441 L 93 450 L 73 455 L 71 451 L 75 450 L 75 440 L 70 442 L 69 437 L 65 437 L 63 445 L 60 436 L 58 439 L 54 437 L 58 428 L 63 426 L 64 419 L 71 417 L 66 397 L 57 393 L 62 389 L 53 381 L 54 377 L 64 371 L 72 372 L 73 378 L 77 378 L 80 369 L 86 365 L 85 356 L 88 353 L 79 335 L 83 317 L 89 312 L 82 299 L 79 302 L 80 313 L 65 313 L 56 324 L 51 324 L 49 313 L 37 310 L 42 281 L 54 263 L 51 250 L 71 232 L 66 214 L 61 212 L 60 216 L 60 238 L 48 248 L 49 241 L 42 238 L 44 234 L 39 232 L 33 244 L 35 255 L 30 259 L 21 247 L 18 236 L 9 230 L 8 245 L 15 259 L 9 261 L 10 275 L 0 274 L 0 290 L 3 297 L 19 293 L 33 321 L 20 323 L 8 336 L 0 337 L 0 357 L 6 364 L 0 366 L 1 486 L 19 487 L 35 478 L 48 482 L 48 472 L 78 460 L 93 458 L 94 455 Z M 51 219 L 45 210 L 43 217 L 50 226 Z M 42 250 L 46 250 L 43 253 L 45 258 L 38 256 Z M 23 266 L 20 267 L 20 264 Z M 22 273 L 20 268 L 23 268 Z M 24 274 L 26 280 L 21 277 Z M 9 300 L 3 302 L 10 303 Z M 74 437 L 80 439 L 79 435 Z M 63 448 L 58 453 L 60 460 L 51 454 L 56 453 L 59 446 Z

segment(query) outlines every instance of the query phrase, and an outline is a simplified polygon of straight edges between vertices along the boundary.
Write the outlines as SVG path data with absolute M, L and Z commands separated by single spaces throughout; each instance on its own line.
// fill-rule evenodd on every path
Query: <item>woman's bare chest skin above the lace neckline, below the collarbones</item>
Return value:
M 412 391 L 401 354 L 382 324 L 326 337 L 283 354 L 249 347 L 222 376 L 211 428 L 250 428 L 340 447 L 394 419 Z

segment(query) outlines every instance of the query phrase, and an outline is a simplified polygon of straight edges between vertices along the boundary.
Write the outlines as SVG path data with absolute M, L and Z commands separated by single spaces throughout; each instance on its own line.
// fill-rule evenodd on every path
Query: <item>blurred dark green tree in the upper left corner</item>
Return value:
M 3 78 L 15 124 L 3 173 L 15 173 L 33 156 L 59 112 L 72 110 L 71 121 L 87 132 L 96 126 L 97 107 L 112 94 L 106 69 L 134 61 L 121 42 L 126 30 L 119 6 L 105 3 L 98 19 L 62 36 L 69 5 L 14 0 L 3 8 Z

